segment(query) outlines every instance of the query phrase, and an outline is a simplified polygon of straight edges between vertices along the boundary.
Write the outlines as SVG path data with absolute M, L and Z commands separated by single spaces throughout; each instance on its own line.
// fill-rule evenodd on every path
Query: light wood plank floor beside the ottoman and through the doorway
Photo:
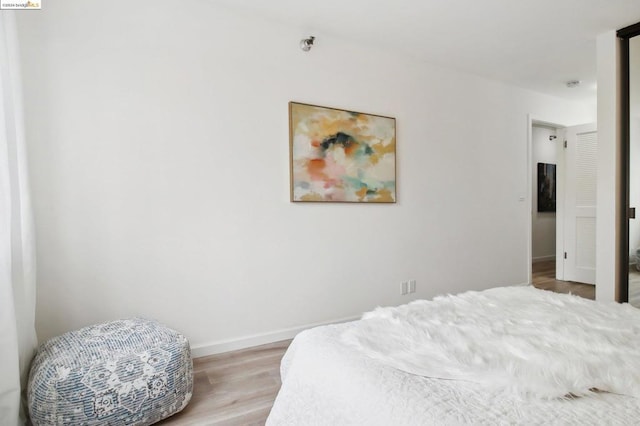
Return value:
M 594 298 L 594 286 L 556 281 L 555 263 L 533 265 L 535 287 Z M 161 423 L 177 425 L 264 425 L 280 389 L 280 360 L 290 340 L 196 358 L 193 398 Z

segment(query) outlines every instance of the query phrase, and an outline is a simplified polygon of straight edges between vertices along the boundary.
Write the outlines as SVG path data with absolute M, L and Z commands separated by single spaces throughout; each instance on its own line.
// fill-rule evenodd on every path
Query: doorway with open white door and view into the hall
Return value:
M 530 116 L 528 141 L 529 282 L 545 271 L 556 287 L 565 287 L 563 282 L 593 287 L 595 124 L 565 127 Z

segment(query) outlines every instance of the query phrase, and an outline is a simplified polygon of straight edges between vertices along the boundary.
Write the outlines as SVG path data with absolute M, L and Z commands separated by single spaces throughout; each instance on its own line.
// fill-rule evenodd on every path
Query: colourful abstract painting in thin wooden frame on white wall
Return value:
M 396 120 L 289 103 L 291 201 L 395 203 Z

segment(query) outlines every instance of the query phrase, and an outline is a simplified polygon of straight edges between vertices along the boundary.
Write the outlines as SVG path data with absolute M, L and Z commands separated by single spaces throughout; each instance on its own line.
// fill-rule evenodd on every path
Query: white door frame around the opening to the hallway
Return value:
M 533 126 L 554 127 L 562 130 L 567 126 L 551 121 L 546 121 L 535 114 L 527 114 L 527 279 L 528 284 L 533 284 Z M 564 279 L 564 149 L 557 145 L 556 165 L 556 279 Z

